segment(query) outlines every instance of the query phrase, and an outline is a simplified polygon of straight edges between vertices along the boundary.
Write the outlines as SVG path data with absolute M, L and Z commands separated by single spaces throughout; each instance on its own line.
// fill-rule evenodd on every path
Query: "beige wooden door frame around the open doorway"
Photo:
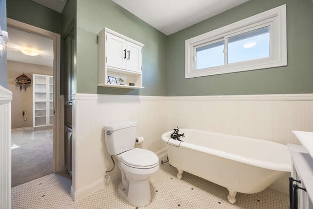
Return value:
M 64 123 L 64 120 L 62 120 L 61 113 L 61 95 L 60 95 L 60 74 L 61 74 L 61 35 L 30 25 L 26 23 L 22 23 L 20 21 L 16 21 L 10 18 L 7 18 L 7 26 L 13 27 L 22 31 L 26 31 L 29 33 L 33 33 L 36 35 L 43 36 L 45 38 L 53 40 L 53 109 L 55 111 L 54 117 L 53 117 L 53 172 L 57 173 L 63 170 L 66 170 L 64 165 L 64 156 L 62 156 L 62 153 L 64 153 L 64 134 L 60 132 L 60 128 L 64 126 L 64 124 L 61 124 L 62 121 Z M 63 139 L 63 140 L 62 140 Z M 63 150 L 63 152 L 62 152 Z M 63 164 L 62 164 L 63 163 Z

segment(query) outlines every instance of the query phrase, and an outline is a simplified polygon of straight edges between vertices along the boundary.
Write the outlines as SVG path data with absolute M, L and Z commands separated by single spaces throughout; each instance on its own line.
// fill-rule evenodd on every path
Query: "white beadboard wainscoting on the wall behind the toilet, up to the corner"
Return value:
M 153 152 L 165 148 L 160 137 L 167 131 L 166 97 L 76 94 L 73 100 L 75 156 L 71 192 L 75 201 L 104 186 L 105 171 L 113 166 L 105 145 L 104 124 L 135 120 L 137 136 L 145 139 L 139 147 Z M 109 175 L 111 180 L 120 177 L 118 162 Z

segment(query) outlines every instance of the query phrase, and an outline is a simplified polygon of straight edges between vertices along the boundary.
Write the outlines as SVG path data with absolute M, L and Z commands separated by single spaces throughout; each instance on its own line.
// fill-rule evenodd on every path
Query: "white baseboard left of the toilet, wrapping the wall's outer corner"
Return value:
M 99 190 L 100 188 L 105 186 L 105 182 L 104 179 L 99 179 L 98 181 L 85 186 L 84 188 L 75 191 L 75 188 L 73 186 L 71 186 L 70 188 L 70 196 L 72 197 L 72 199 L 76 202 L 88 195 L 90 195 L 91 193 Z

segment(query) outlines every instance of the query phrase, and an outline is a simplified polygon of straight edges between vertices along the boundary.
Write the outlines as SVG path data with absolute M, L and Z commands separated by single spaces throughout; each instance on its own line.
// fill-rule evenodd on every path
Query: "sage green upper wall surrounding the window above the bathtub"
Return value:
M 287 4 L 287 67 L 185 79 L 186 39 L 282 4 Z M 312 0 L 250 0 L 168 37 L 168 95 L 313 93 L 312 37 Z

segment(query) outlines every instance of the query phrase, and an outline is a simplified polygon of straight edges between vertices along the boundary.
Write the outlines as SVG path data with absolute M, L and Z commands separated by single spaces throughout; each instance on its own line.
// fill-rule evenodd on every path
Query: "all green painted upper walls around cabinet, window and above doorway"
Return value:
M 287 4 L 287 67 L 184 78 L 186 39 L 285 3 Z M 76 0 L 69 0 L 67 4 L 63 14 L 60 14 L 30 0 L 7 0 L 7 16 L 60 34 L 65 32 L 71 18 L 77 16 L 75 28 L 77 29 L 78 93 L 169 96 L 313 93 L 311 67 L 313 2 L 311 0 L 250 0 L 170 36 L 165 36 L 112 0 L 93 0 L 92 3 L 77 0 L 77 7 Z M 145 89 L 97 87 L 96 34 L 104 27 L 145 44 L 143 48 Z M 6 83 L 6 80 L 2 83 Z

